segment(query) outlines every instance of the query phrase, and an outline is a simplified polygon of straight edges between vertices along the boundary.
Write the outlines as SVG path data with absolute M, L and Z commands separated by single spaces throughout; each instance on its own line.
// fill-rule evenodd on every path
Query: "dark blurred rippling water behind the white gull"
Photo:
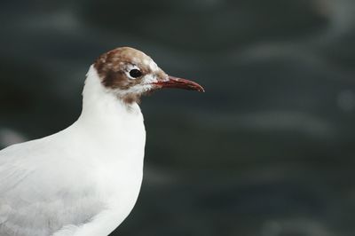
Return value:
M 1 147 L 75 122 L 118 46 L 207 90 L 143 99 L 146 177 L 112 235 L 355 235 L 355 1 L 1 1 L 0 19 Z

